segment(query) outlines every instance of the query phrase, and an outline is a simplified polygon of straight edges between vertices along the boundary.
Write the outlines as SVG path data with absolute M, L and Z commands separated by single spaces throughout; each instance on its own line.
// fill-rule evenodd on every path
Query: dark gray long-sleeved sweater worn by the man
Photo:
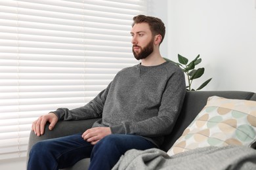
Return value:
M 186 84 L 182 70 L 170 62 L 135 65 L 117 73 L 95 99 L 77 109 L 54 111 L 59 120 L 101 118 L 93 127 L 145 137 L 157 146 L 171 133 L 182 107 Z

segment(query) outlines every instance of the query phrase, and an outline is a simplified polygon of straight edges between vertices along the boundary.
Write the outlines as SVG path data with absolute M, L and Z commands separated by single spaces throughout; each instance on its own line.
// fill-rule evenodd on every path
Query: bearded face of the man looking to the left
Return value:
M 131 29 L 133 55 L 136 59 L 145 59 L 154 51 L 154 37 L 146 23 L 135 24 Z

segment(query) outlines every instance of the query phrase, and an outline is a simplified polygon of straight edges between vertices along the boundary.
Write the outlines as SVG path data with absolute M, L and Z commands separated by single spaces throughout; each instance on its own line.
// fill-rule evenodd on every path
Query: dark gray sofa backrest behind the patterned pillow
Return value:
M 184 129 L 196 118 L 198 113 L 203 109 L 210 96 L 217 95 L 228 99 L 247 99 L 256 101 L 256 94 L 253 92 L 241 91 L 196 91 L 186 92 L 181 114 L 177 119 L 173 131 L 170 135 L 165 137 L 165 141 L 161 146 L 162 150 L 169 150 L 171 146 L 181 137 Z

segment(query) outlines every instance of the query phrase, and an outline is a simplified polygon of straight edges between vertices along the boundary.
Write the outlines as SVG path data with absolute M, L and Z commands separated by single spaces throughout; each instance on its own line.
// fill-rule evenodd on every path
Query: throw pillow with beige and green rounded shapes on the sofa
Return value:
M 167 154 L 204 146 L 251 146 L 255 141 L 256 101 L 212 96 Z

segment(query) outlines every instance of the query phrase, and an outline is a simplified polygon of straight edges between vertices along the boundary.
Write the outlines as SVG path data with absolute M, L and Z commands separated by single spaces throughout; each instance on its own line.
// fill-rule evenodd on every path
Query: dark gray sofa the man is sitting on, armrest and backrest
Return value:
M 197 91 L 197 92 L 187 92 L 182 106 L 181 114 L 173 128 L 170 135 L 165 137 L 165 142 L 161 146 L 162 150 L 169 150 L 171 146 L 177 141 L 177 139 L 182 135 L 182 132 L 186 127 L 194 120 L 196 115 L 203 109 L 207 102 L 207 98 L 213 95 L 219 97 L 226 97 L 229 99 L 247 99 L 256 101 L 256 93 L 253 92 L 241 92 L 241 91 Z M 49 131 L 48 127 L 45 128 L 45 135 L 37 137 L 33 132 L 30 133 L 30 140 L 28 144 L 28 156 L 30 149 L 33 144 L 38 141 L 51 139 L 55 137 L 62 137 L 66 135 L 71 135 L 74 133 L 83 132 L 90 128 L 98 119 L 90 120 L 79 120 L 79 121 L 60 121 L 56 124 L 53 131 Z M 27 157 L 28 158 L 28 157 Z M 78 161 L 73 167 L 68 169 L 87 169 L 89 165 L 89 159 L 84 159 Z

